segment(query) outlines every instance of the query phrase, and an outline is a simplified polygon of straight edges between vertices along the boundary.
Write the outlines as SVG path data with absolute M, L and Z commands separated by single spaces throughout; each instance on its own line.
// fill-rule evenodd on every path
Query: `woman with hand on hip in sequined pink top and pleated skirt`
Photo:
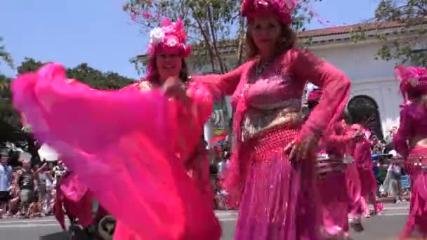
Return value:
M 296 1 L 247 0 L 248 62 L 201 81 L 232 95 L 235 147 L 225 189 L 239 204 L 235 239 L 319 239 L 315 145 L 346 105 L 350 80 L 336 67 L 295 47 Z M 303 124 L 308 81 L 324 90 Z M 333 123 L 333 124 L 330 124 Z

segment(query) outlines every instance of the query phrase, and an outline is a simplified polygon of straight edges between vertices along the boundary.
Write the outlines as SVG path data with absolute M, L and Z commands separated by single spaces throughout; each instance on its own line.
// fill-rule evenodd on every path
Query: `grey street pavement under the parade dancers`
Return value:
M 364 232 L 350 232 L 355 240 L 396 239 L 406 222 L 409 204 L 385 204 L 381 215 L 363 220 Z M 223 226 L 223 239 L 232 240 L 237 221 L 236 211 L 217 211 Z M 0 240 L 60 240 L 64 239 L 55 218 L 0 220 Z

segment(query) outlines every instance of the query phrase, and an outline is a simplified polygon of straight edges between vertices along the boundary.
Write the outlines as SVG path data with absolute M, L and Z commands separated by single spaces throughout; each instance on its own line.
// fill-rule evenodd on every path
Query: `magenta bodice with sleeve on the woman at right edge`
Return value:
M 402 156 L 409 154 L 408 141 L 412 138 L 427 138 L 427 109 L 420 103 L 412 102 L 400 111 L 399 130 L 393 136 L 393 145 Z

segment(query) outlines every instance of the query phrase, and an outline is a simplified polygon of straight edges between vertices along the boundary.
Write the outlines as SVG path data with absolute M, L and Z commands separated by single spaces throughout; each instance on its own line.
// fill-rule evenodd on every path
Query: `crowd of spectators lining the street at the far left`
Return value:
M 0 218 L 34 218 L 53 214 L 56 184 L 65 173 L 60 161 L 11 164 L 11 152 L 0 149 Z

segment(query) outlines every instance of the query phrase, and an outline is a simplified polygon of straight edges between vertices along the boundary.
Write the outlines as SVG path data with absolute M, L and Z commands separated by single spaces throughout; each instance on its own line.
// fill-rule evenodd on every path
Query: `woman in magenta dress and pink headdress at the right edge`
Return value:
M 404 67 L 395 69 L 405 105 L 400 110 L 400 127 L 393 136 L 396 151 L 405 157 L 411 176 L 411 207 L 402 239 L 418 227 L 427 236 L 427 69 Z

